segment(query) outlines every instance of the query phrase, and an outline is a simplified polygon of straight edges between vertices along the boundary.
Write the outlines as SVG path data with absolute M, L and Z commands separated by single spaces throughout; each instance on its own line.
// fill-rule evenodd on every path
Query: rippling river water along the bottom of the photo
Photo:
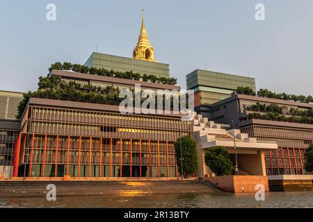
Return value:
M 264 201 L 255 200 L 254 194 L 152 194 L 126 196 L 71 196 L 46 198 L 0 198 L 1 207 L 313 207 L 313 191 L 273 192 Z

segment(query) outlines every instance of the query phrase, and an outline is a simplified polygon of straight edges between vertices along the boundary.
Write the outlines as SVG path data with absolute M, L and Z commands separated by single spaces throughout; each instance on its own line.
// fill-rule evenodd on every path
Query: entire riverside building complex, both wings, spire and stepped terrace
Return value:
M 125 58 L 92 53 L 85 65 L 121 73 L 132 71 L 141 76 L 170 78 L 169 65 L 157 62 L 154 58 L 154 48 L 147 35 L 144 19 L 132 54 L 133 58 Z M 77 71 L 51 69 L 48 76 L 57 76 L 63 83 L 102 89 L 134 89 L 138 84 L 141 89 L 153 91 L 181 89 L 172 84 Z M 234 98 L 232 93 L 237 87 L 250 87 L 255 91 L 254 78 L 200 69 L 186 78 L 187 89 L 195 91 L 195 111 L 198 112 L 192 121 L 182 121 L 181 114 L 172 112 L 122 114 L 118 103 L 100 104 L 35 97 L 29 99 L 21 118 L 17 120 L 16 110 L 12 111 L 8 101 L 15 102 L 17 106 L 17 101 L 22 101 L 22 93 L 13 95 L 4 92 L 5 99 L 0 101 L 6 104 L 6 109 L 2 109 L 3 112 L 0 110 L 0 179 L 2 172 L 5 172 L 4 178 L 174 178 L 178 176 L 179 158 L 174 144 L 182 136 L 191 136 L 198 144 L 197 176 L 208 176 L 210 170 L 204 164 L 204 152 L 212 146 L 227 147 L 232 159 L 233 147 L 237 146 L 238 167 L 249 175 L 266 177 L 279 173 L 307 173 L 303 171 L 303 152 L 306 144 L 312 141 L 311 126 L 307 126 L 310 129 L 305 129 L 305 132 L 294 134 L 292 138 L 289 135 L 261 137 L 255 131 L 259 129 L 259 121 L 247 119 L 236 106 L 243 104 L 243 99 Z M 17 99 L 8 99 L 7 94 Z M 252 97 L 248 98 L 246 105 L 255 103 L 256 98 Z M 296 103 L 291 104 L 294 105 Z M 312 108 L 312 105 L 309 106 Z M 243 111 L 247 114 L 247 110 Z M 229 130 L 231 120 L 234 120 L 235 128 L 241 131 Z M 289 125 L 294 124 L 285 125 L 282 132 L 288 134 Z M 268 128 L 262 128 L 259 132 L 264 133 L 266 130 Z M 280 134 L 280 130 L 275 126 L 271 134 Z M 295 132 L 298 133 L 293 129 L 291 133 Z M 303 146 L 294 146 L 291 150 L 290 144 L 282 142 L 287 138 L 295 143 L 297 137 L 305 143 Z

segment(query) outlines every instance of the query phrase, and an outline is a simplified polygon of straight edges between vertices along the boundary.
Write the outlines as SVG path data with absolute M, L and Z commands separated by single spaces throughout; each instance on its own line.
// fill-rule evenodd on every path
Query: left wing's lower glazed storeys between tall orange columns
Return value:
M 177 176 L 172 142 L 35 134 L 24 140 L 29 177 Z

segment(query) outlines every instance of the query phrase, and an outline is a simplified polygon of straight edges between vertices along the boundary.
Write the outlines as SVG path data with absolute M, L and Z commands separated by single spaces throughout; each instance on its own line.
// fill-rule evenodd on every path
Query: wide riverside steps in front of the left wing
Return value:
M 202 180 L 1 181 L 0 198 L 45 197 L 49 184 L 56 185 L 56 196 L 208 194 L 220 191 Z

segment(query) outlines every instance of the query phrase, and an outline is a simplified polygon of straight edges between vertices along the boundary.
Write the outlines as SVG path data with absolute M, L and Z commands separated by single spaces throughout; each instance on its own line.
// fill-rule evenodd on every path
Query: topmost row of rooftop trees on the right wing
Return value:
M 259 96 L 259 97 L 265 97 L 270 99 L 282 99 L 286 101 L 295 101 L 300 103 L 313 103 L 313 96 L 297 96 L 294 94 L 287 94 L 287 93 L 276 93 L 271 92 L 268 89 L 259 89 L 257 93 L 255 93 L 252 89 L 249 87 L 238 87 L 236 92 L 238 94 L 245 94 L 249 96 Z

